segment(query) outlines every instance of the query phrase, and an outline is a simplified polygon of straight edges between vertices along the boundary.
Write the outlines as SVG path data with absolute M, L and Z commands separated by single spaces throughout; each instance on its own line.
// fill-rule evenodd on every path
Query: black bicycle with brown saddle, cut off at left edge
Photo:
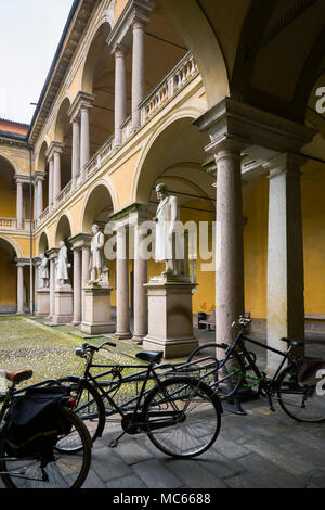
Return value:
M 57 429 L 47 431 L 43 434 L 37 433 L 30 438 L 30 443 L 14 449 L 8 426 L 8 418 L 12 412 L 13 405 L 18 399 L 32 398 L 32 395 L 41 397 L 58 392 L 62 387 L 57 381 L 48 380 L 21 390 L 16 385 L 27 381 L 32 377 L 31 370 L 20 370 L 6 372 L 6 379 L 12 384 L 6 392 L 0 395 L 2 408 L 0 410 L 0 477 L 6 488 L 79 488 L 83 484 L 91 462 L 91 439 L 83 422 L 72 410 L 74 400 L 69 396 L 64 396 L 55 410 L 55 425 Z M 56 387 L 55 387 L 56 386 Z M 61 393 L 61 392 L 60 392 Z M 35 396 L 34 396 L 35 398 Z M 18 403 L 21 404 L 21 403 Z M 24 404 L 24 403 L 23 403 Z M 26 400 L 25 400 L 26 404 Z M 41 451 L 37 441 L 53 441 L 51 458 L 44 460 L 44 451 Z M 78 454 L 73 455 L 75 445 L 78 444 Z M 26 445 L 29 447 L 28 454 Z M 81 446 L 80 446 L 81 445 Z

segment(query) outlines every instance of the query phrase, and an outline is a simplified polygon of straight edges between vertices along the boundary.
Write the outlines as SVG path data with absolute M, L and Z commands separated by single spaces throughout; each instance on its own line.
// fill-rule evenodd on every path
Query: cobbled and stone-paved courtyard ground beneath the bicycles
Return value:
M 0 319 L 0 368 L 17 369 L 29 361 L 42 377 L 50 372 L 51 377 L 77 373 L 82 370 L 82 360 L 78 365 L 74 349 L 84 339 L 70 335 L 67 330 L 74 331 L 69 327 L 49 328 L 29 319 Z M 200 336 L 203 341 L 205 333 L 200 332 Z M 210 340 L 208 336 L 204 340 Z M 123 352 L 133 355 L 138 349 L 130 343 L 118 343 L 117 356 L 122 359 Z M 321 344 L 308 347 L 309 355 L 324 356 L 323 353 Z M 263 364 L 262 350 L 258 352 L 258 359 Z M 145 435 L 125 435 L 118 447 L 112 449 L 107 445 L 119 435 L 120 428 L 106 428 L 94 444 L 84 487 L 325 487 L 324 424 L 298 423 L 277 406 L 273 413 L 262 399 L 245 403 L 243 407 L 246 416 L 224 412 L 216 444 L 195 460 L 167 458 Z

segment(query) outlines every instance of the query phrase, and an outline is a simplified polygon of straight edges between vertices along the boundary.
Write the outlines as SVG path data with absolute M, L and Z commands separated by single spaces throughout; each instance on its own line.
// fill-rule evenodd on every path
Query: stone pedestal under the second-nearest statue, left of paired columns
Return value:
M 113 333 L 110 286 L 91 284 L 84 290 L 84 317 L 81 331 L 88 334 Z

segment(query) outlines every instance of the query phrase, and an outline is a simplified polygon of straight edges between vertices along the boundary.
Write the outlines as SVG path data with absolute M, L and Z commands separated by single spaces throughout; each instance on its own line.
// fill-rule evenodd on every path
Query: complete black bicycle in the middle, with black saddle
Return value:
M 165 373 L 166 379 L 161 380 L 155 369 L 162 358 L 160 352 L 138 353 L 136 358 L 147 365 L 94 364 L 94 354 L 106 345 L 116 346 L 113 342 L 104 342 L 100 346 L 83 344 L 77 348 L 76 355 L 86 359 L 83 377 L 60 380 L 69 386 L 76 399 L 74 410 L 87 424 L 93 442 L 102 435 L 106 419 L 112 420 L 118 415 L 122 433 L 109 444 L 110 447 L 116 447 L 126 433 L 145 433 L 158 449 L 176 458 L 195 457 L 212 446 L 220 431 L 222 408 L 209 386 L 185 373 L 180 375 L 172 371 Z M 92 368 L 106 370 L 94 375 Z M 127 369 L 135 369 L 136 373 L 123 377 Z M 107 375 L 112 380 L 100 381 Z M 118 392 L 129 384 L 135 384 L 136 391 L 119 405 Z

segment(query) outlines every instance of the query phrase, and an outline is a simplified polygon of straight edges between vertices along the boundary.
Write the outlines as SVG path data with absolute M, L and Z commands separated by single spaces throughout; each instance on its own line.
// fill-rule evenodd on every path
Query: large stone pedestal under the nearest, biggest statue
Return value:
M 154 279 L 148 291 L 148 334 L 144 350 L 164 350 L 165 358 L 187 356 L 198 346 L 193 334 L 192 289 L 188 281 Z

